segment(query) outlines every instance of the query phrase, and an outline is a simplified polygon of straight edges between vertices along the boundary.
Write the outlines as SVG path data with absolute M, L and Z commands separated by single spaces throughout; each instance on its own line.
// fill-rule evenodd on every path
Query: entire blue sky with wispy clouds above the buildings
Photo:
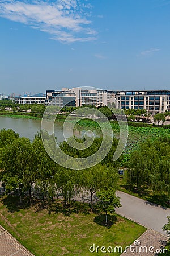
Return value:
M 0 93 L 170 89 L 170 0 L 0 0 Z

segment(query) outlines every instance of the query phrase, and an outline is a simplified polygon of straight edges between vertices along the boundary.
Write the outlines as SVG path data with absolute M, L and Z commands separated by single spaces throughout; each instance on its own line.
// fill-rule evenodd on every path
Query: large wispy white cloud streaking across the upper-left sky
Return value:
M 1 0 L 0 16 L 50 34 L 50 39 L 63 43 L 86 42 L 96 39 L 87 15 L 91 5 L 79 0 Z

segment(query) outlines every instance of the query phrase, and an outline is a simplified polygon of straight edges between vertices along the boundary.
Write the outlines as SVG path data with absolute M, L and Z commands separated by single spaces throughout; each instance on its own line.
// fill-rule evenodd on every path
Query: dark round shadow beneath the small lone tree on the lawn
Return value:
M 108 217 L 108 222 L 107 224 L 105 223 L 105 214 L 98 214 L 95 218 L 94 218 L 94 222 L 100 226 L 105 226 L 105 228 L 111 228 L 111 226 L 113 226 L 113 224 L 115 224 L 118 219 L 115 215 L 107 215 Z

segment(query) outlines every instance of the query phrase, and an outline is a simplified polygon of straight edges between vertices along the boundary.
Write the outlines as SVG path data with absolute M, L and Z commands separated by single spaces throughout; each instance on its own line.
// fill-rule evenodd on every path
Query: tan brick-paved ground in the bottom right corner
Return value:
M 162 253 L 168 237 L 155 232 L 154 230 L 146 230 L 134 243 L 128 248 L 122 256 L 154 256 Z M 168 253 L 167 253 L 168 256 Z

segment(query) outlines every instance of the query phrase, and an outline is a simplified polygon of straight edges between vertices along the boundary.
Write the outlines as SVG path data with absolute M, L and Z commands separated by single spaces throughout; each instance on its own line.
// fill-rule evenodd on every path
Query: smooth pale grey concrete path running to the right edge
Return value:
M 117 192 L 117 196 L 121 198 L 122 205 L 122 207 L 116 208 L 117 214 L 166 235 L 162 228 L 168 222 L 169 208 L 161 207 L 121 191 Z

